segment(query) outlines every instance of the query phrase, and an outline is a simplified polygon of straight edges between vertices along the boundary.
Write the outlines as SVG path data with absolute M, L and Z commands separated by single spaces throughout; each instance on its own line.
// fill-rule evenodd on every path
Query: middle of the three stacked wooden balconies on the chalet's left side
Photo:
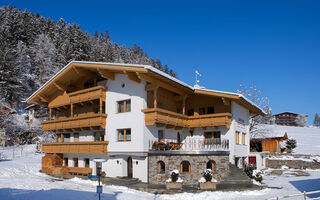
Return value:
M 57 120 L 41 122 L 45 131 L 85 129 L 93 127 L 106 128 L 107 114 L 85 113 L 75 117 L 65 117 Z

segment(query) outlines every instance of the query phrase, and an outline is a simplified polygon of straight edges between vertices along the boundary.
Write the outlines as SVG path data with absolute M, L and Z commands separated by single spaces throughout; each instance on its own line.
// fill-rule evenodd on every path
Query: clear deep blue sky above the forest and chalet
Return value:
M 234 92 L 256 85 L 273 113 L 320 113 L 320 1 L 6 1 L 114 42 L 137 44 L 182 81 Z

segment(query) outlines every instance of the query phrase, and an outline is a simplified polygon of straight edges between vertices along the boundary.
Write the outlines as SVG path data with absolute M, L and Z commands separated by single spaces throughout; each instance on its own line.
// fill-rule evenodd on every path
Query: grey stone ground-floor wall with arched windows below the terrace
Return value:
M 213 177 L 218 182 L 224 180 L 229 174 L 229 155 L 156 155 L 149 154 L 148 163 L 148 181 L 151 184 L 165 184 L 170 178 L 169 173 L 172 170 L 180 171 L 182 161 L 189 161 L 191 166 L 190 173 L 181 173 L 181 177 L 185 185 L 198 184 L 198 180 L 202 177 L 203 171 L 207 167 L 207 162 L 212 160 L 215 162 Z M 165 173 L 158 173 L 158 161 L 165 163 Z

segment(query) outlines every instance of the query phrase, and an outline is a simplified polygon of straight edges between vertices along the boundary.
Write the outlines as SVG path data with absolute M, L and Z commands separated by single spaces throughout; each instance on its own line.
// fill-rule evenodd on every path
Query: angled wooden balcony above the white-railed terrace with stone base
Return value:
M 199 116 L 186 116 L 161 108 L 144 109 L 146 126 L 163 126 L 168 128 L 196 128 L 207 126 L 225 126 L 230 128 L 231 113 L 217 113 Z

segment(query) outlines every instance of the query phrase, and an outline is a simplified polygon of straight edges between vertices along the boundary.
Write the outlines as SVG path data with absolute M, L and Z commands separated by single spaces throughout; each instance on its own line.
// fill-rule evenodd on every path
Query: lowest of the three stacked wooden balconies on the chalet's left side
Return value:
M 54 142 L 42 143 L 42 150 L 45 153 L 108 153 L 108 141 L 102 142 Z

